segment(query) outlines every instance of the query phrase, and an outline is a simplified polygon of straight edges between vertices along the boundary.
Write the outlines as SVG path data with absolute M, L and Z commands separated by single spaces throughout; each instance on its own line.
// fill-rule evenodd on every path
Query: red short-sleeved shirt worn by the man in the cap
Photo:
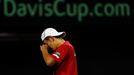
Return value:
M 58 63 L 53 75 L 78 75 L 76 54 L 68 41 L 58 47 L 52 57 Z

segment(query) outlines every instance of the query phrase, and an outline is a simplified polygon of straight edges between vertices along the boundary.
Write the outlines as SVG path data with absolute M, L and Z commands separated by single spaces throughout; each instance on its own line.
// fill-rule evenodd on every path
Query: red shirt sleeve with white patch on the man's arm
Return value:
M 61 63 L 65 58 L 68 57 L 68 54 L 69 47 L 64 45 L 52 53 L 52 57 L 56 60 L 56 62 Z

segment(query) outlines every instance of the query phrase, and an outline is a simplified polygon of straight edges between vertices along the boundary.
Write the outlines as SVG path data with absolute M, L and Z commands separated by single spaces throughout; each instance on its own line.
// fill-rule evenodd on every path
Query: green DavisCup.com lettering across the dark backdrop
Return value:
M 63 7 L 64 9 L 60 9 Z M 97 3 L 91 11 L 86 3 L 65 3 L 64 0 L 54 0 L 53 3 L 43 3 L 38 0 L 35 4 L 16 3 L 15 0 L 4 0 L 4 15 L 12 16 L 57 16 L 57 17 L 77 17 L 78 21 L 82 21 L 84 17 L 111 17 L 111 16 L 130 16 L 130 6 L 127 3 Z M 102 11 L 100 11 L 100 9 Z

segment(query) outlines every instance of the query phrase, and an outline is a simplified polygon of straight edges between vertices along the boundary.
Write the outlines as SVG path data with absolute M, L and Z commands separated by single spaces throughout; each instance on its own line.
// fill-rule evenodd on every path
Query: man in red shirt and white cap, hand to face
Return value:
M 54 28 L 45 29 L 41 35 L 44 44 L 40 49 L 46 64 L 56 65 L 53 75 L 78 75 L 76 53 L 69 41 L 63 39 L 65 35 Z M 49 47 L 54 50 L 52 54 L 48 53 Z

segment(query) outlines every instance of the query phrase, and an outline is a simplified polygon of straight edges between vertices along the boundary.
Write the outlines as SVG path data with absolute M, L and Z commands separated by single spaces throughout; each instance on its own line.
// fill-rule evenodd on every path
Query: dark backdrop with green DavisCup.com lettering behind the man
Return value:
M 0 0 L 0 73 L 51 75 L 41 52 L 47 27 L 65 31 L 79 75 L 133 73 L 132 0 Z

